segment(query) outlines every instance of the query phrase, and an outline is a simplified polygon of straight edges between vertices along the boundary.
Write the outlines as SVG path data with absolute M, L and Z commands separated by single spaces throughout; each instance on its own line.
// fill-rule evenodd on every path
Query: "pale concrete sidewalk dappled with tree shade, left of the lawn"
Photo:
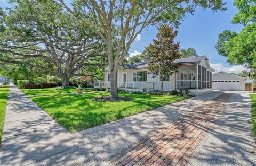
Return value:
M 76 139 L 11 85 L 7 100 L 0 165 L 27 165 L 76 145 Z

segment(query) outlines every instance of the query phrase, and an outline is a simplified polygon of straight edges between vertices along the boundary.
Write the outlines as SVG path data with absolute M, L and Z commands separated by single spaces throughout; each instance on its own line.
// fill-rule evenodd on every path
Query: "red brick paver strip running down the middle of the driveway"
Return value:
M 224 93 L 165 129 L 143 138 L 115 156 L 110 165 L 185 165 L 230 95 Z

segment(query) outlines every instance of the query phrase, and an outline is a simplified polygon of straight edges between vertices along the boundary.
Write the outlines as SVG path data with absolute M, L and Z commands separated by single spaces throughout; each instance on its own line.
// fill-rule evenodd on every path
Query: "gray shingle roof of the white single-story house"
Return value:
M 197 57 L 190 57 L 190 58 L 180 58 L 180 59 L 174 60 L 174 63 L 179 63 L 179 64 L 199 63 L 205 57 L 206 56 L 197 56 Z M 137 62 L 137 63 L 126 64 L 125 68 L 127 68 L 127 69 L 135 69 L 135 68 L 146 68 L 147 66 L 148 66 L 147 62 Z

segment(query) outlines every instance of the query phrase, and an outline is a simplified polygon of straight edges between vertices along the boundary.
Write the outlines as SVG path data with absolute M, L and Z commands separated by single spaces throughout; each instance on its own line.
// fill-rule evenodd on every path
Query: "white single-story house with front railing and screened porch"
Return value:
M 164 91 L 189 88 L 190 95 L 201 95 L 212 91 L 212 72 L 206 56 L 181 58 L 175 60 L 180 65 L 179 72 L 164 76 Z M 153 76 L 146 67 L 147 62 L 120 66 L 117 85 L 130 91 L 142 91 L 143 88 L 161 90 L 161 76 Z M 95 87 L 110 86 L 109 67 L 104 72 L 104 81 L 95 82 Z

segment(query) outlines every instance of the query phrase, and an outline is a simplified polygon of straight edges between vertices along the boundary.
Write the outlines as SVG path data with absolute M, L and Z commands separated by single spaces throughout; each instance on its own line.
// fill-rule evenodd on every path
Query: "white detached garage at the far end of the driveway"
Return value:
M 227 72 L 212 74 L 212 89 L 225 91 L 244 91 L 244 77 Z

